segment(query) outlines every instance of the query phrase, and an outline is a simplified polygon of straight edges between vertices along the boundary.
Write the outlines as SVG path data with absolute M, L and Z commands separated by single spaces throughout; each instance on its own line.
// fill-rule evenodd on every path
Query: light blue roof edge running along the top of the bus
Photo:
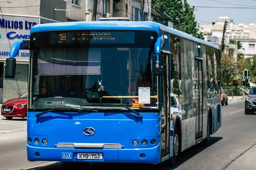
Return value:
M 198 39 L 178 31 L 174 28 L 164 26 L 160 23 L 151 21 L 78 21 L 78 22 L 63 22 L 63 23 L 47 23 L 38 24 L 31 28 L 30 34 L 38 31 L 60 31 L 60 30 L 81 30 L 81 29 L 134 29 L 134 30 L 152 30 L 159 34 L 159 31 L 166 31 L 172 35 L 185 38 L 194 42 L 207 45 L 212 48 L 220 49 L 218 45 Z

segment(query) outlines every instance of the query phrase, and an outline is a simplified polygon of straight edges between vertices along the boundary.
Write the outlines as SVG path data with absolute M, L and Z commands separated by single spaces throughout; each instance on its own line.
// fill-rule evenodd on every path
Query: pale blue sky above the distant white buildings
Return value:
M 211 23 L 212 21 L 217 20 L 218 17 L 224 16 L 232 19 L 233 23 L 236 25 L 239 23 L 247 25 L 249 23 L 256 23 L 256 0 L 187 0 L 187 2 L 190 6 L 195 6 L 195 19 L 202 25 Z M 203 6 L 203 8 L 196 6 Z

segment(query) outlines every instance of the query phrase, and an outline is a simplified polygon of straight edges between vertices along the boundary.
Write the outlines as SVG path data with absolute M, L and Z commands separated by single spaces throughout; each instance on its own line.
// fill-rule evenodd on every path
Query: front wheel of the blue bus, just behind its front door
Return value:
M 173 167 L 175 165 L 175 161 L 177 158 L 178 153 L 180 152 L 180 145 L 179 145 L 179 135 L 177 133 L 177 126 L 175 126 L 174 134 L 173 134 L 173 156 L 166 160 L 166 165 L 168 167 Z

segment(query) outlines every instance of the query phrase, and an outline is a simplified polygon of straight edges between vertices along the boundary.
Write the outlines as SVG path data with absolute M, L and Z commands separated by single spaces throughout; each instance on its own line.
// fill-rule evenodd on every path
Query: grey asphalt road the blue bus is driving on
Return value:
M 0 118 L 0 170 L 69 170 L 90 169 L 158 169 L 158 170 L 232 170 L 256 169 L 252 160 L 256 154 L 256 115 L 244 114 L 244 100 L 221 106 L 221 128 L 211 136 L 209 147 L 196 145 L 185 150 L 175 167 L 144 164 L 63 164 L 61 162 L 29 162 L 26 159 L 26 119 Z M 7 126 L 8 125 L 8 126 Z M 10 126 L 12 125 L 12 126 Z M 246 168 L 247 167 L 247 168 Z

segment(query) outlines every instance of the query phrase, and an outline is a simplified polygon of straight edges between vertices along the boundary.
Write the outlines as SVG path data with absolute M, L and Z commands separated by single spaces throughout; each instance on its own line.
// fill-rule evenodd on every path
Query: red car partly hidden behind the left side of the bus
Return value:
M 13 117 L 26 117 L 28 103 L 28 92 L 17 99 L 11 99 L 3 103 L 1 115 L 10 120 Z

